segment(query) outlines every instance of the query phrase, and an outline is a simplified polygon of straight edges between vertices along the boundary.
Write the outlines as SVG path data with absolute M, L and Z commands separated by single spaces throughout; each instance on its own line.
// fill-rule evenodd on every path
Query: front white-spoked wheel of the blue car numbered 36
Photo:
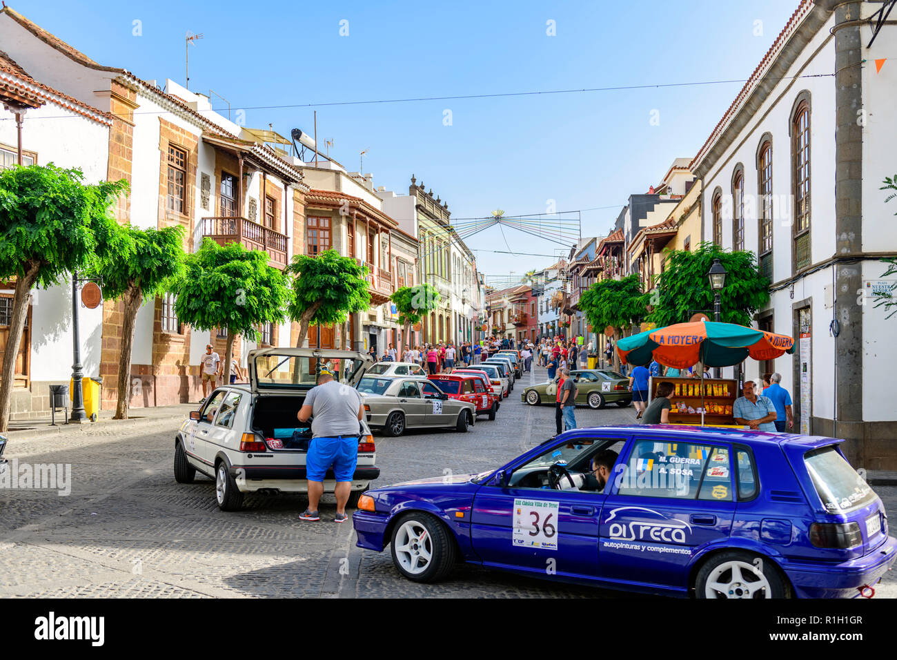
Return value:
M 455 564 L 455 543 L 439 520 L 422 511 L 404 515 L 392 534 L 393 562 L 415 582 L 434 582 Z

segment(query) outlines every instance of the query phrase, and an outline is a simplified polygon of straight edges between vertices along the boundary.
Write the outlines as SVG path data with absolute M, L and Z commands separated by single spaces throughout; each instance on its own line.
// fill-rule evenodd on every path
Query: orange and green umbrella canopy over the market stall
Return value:
M 693 321 L 647 330 L 617 341 L 623 364 L 661 365 L 687 369 L 699 362 L 707 366 L 737 365 L 747 357 L 771 360 L 794 353 L 794 339 L 735 323 Z

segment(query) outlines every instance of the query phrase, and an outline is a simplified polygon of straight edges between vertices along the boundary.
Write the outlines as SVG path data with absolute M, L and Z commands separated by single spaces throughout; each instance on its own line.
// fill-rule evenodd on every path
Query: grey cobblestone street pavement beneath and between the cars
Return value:
M 494 422 L 481 418 L 469 433 L 377 437 L 381 478 L 375 485 L 483 471 L 552 436 L 553 409 L 522 403 L 522 387 L 518 382 Z M 576 414 L 579 427 L 635 418 L 634 409 L 616 406 Z M 15 434 L 5 457 L 71 463 L 72 491 L 60 497 L 49 490 L 0 490 L 0 597 L 621 595 L 473 567 L 457 568 L 438 585 L 414 584 L 398 576 L 388 552 L 356 548 L 352 524 L 330 522 L 332 497 L 322 503 L 320 523 L 299 520 L 306 502 L 295 496 L 247 497 L 243 511 L 222 513 L 211 480 L 175 482 L 178 425 L 172 417 L 34 439 Z M 875 489 L 889 512 L 897 510 L 897 488 Z M 348 574 L 341 571 L 346 566 Z M 893 573 L 877 592 L 897 594 Z

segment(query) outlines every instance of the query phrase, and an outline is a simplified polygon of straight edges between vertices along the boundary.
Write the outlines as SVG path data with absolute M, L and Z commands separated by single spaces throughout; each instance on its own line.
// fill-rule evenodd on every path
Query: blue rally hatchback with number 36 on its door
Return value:
M 371 490 L 361 548 L 438 580 L 459 561 L 699 598 L 868 595 L 897 558 L 840 440 L 694 427 L 570 430 L 498 470 Z

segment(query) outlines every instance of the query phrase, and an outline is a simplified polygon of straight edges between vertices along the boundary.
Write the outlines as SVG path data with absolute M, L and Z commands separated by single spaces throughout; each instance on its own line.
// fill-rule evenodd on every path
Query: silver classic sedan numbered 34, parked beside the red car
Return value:
M 368 426 L 384 435 L 401 436 L 405 428 L 454 428 L 463 433 L 474 426 L 473 403 L 449 399 L 425 378 L 368 375 L 358 383 Z

